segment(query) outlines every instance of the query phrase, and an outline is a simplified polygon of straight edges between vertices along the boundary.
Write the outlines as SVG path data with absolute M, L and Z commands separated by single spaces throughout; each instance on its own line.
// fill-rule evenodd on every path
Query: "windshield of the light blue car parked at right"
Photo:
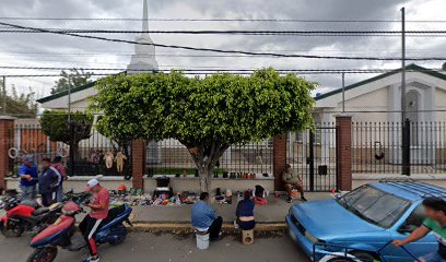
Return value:
M 410 206 L 410 201 L 363 186 L 338 199 L 347 210 L 377 226 L 391 227 Z

